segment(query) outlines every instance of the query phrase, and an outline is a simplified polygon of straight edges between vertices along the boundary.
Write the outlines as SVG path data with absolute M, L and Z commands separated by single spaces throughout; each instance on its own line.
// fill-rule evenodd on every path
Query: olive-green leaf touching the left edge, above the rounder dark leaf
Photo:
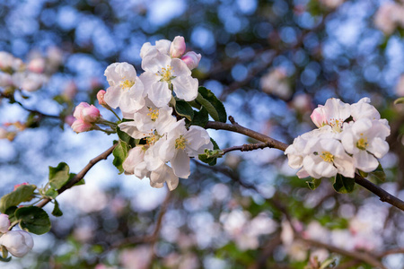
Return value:
M 4 195 L 0 199 L 0 212 L 5 213 L 12 206 L 31 201 L 36 188 L 35 185 L 22 185 L 8 195 Z

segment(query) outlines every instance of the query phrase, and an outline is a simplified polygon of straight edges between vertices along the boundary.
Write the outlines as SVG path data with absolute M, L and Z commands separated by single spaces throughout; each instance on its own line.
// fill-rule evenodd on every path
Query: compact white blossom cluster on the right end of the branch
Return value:
M 318 129 L 294 139 L 285 154 L 289 166 L 300 169 L 299 178 L 329 178 L 341 174 L 354 178 L 356 169 L 371 172 L 389 151 L 385 141 L 390 126 L 363 98 L 349 105 L 338 99 L 327 100 L 312 112 Z

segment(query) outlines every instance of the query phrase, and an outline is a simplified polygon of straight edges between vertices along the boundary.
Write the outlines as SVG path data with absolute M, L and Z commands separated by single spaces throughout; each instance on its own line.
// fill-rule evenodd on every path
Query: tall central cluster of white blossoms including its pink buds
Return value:
M 184 54 L 185 50 L 182 37 L 172 42 L 158 40 L 154 46 L 145 43 L 140 52 L 145 72 L 137 76 L 133 65 L 111 64 L 105 70 L 110 87 L 97 95 L 103 107 L 120 108 L 125 120 L 119 130 L 136 139 L 122 168 L 126 174 L 150 178 L 152 187 L 167 182 L 174 189 L 179 178 L 189 177 L 189 158 L 213 148 L 204 128 L 187 127 L 184 118 L 174 117 L 176 100 L 191 101 L 198 96 L 198 80 L 191 76 L 191 69 L 198 66 L 200 55 Z M 72 127 L 76 132 L 93 128 L 100 117 L 95 109 L 84 108 L 83 103 L 75 109 Z

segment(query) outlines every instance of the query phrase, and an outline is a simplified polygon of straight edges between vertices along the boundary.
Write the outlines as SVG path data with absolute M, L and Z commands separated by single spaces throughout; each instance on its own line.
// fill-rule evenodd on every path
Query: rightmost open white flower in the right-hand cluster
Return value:
M 389 144 L 385 141 L 389 135 L 390 126 L 386 119 L 361 118 L 355 123 L 344 124 L 341 142 L 352 154 L 356 168 L 371 172 L 379 166 L 376 158 L 382 158 L 389 151 Z

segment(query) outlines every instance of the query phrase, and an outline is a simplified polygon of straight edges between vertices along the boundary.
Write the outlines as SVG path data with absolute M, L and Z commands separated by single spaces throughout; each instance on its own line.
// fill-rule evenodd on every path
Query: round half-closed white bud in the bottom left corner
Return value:
M 23 230 L 10 230 L 0 238 L 0 245 L 13 256 L 25 256 L 33 247 L 31 234 Z

